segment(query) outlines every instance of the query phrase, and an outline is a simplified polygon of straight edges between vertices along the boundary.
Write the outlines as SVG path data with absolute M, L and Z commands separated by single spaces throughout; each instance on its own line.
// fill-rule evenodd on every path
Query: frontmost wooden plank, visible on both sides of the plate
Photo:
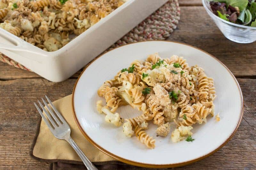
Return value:
M 255 79 L 238 79 L 244 95 L 244 117 L 235 136 L 212 156 L 178 169 L 255 169 Z M 41 78 L 0 81 L 0 169 L 48 169 L 29 156 L 39 117 L 33 102 L 44 94 L 52 100 L 72 92 L 76 79 L 52 83 Z

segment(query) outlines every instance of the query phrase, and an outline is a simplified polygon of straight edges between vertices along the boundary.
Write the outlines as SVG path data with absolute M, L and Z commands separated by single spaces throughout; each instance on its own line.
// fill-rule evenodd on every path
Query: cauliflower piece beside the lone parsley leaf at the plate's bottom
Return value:
M 179 128 L 175 129 L 172 132 L 171 136 L 172 142 L 176 143 L 183 139 L 186 139 L 187 135 L 191 136 L 193 134 L 192 132 L 190 132 L 191 129 L 193 129 L 192 126 L 180 126 Z

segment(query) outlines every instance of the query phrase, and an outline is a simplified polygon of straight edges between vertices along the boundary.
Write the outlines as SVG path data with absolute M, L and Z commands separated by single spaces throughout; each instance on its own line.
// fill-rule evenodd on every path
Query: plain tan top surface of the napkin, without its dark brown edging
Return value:
M 78 129 L 73 117 L 71 108 L 72 95 L 53 102 L 54 106 L 59 110 L 71 129 L 71 137 L 84 152 L 87 158 L 92 162 L 105 162 L 116 160 L 99 149 L 94 147 L 86 140 L 81 131 Z M 32 146 L 33 147 L 33 146 Z M 81 161 L 74 149 L 65 140 L 57 139 L 52 135 L 45 122 L 42 120 L 38 136 L 35 140 L 34 148 L 32 148 L 33 156 L 39 159 L 66 159 L 73 161 Z

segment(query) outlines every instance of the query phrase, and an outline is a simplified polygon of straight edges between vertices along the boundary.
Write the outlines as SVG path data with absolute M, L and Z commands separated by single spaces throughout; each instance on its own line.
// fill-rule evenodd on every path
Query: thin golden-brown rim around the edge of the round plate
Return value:
M 164 40 L 152 40 L 152 41 L 164 41 Z M 147 41 L 140 41 L 140 42 L 147 42 Z M 130 44 L 134 44 L 134 43 L 140 43 L 140 42 L 133 42 L 133 43 L 130 43 Z M 164 41 L 166 42 L 166 41 Z M 96 57 L 94 60 L 92 60 L 85 68 L 84 70 L 82 71 L 82 73 L 80 74 L 80 76 L 77 78 L 76 80 L 76 84 L 74 86 L 74 89 L 73 89 L 73 92 L 72 92 L 72 112 L 73 112 L 73 116 L 74 116 L 74 119 L 76 121 L 76 124 L 78 126 L 78 128 L 80 129 L 80 131 L 82 132 L 82 134 L 84 135 L 84 137 L 90 141 L 95 147 L 97 147 L 100 151 L 106 153 L 107 155 L 121 161 L 121 162 L 124 162 L 124 163 L 127 163 L 127 164 L 131 164 L 131 165 L 135 165 L 135 166 L 142 166 L 142 167 L 148 167 L 148 168 L 170 168 L 170 167 L 178 167 L 178 166 L 185 166 L 185 165 L 188 165 L 190 163 L 193 163 L 193 162 L 196 162 L 196 161 L 199 161 L 201 159 L 204 159 L 210 155 L 212 155 L 214 152 L 217 152 L 220 148 L 222 148 L 225 144 L 228 143 L 228 141 L 234 136 L 234 134 L 236 133 L 236 130 L 237 128 L 239 127 L 241 121 L 242 121 L 242 117 L 243 117 L 243 113 L 244 113 L 244 99 L 243 99 L 243 94 L 242 94 L 242 90 L 240 88 L 240 85 L 239 83 L 237 82 L 235 76 L 232 74 L 232 72 L 219 60 L 217 59 L 216 57 L 214 57 L 213 55 L 205 52 L 204 50 L 200 49 L 200 48 L 197 48 L 197 47 L 194 47 L 194 46 L 191 46 L 191 45 L 188 45 L 188 44 L 185 44 L 185 43 L 181 43 L 181 42 L 175 42 L 175 41 L 167 41 L 167 42 L 173 42 L 173 43 L 178 43 L 178 44 L 183 44 L 183 45 L 186 45 L 186 46 L 190 46 L 190 47 L 193 47 L 193 48 L 196 48 L 210 56 L 212 56 L 212 58 L 214 58 L 215 60 L 217 60 L 220 64 L 222 64 L 229 72 L 229 74 L 233 77 L 233 79 L 235 80 L 236 82 L 236 85 L 239 89 L 239 92 L 240 92 L 240 97 L 241 97 L 241 112 L 240 112 L 240 118 L 239 118 L 239 121 L 236 125 L 236 129 L 233 131 L 233 133 L 228 137 L 228 139 L 222 143 L 218 148 L 216 148 L 215 150 L 213 150 L 212 152 L 202 156 L 202 157 L 199 157 L 199 158 L 196 158 L 196 159 L 193 159 L 193 160 L 189 160 L 189 161 L 186 161 L 186 162 L 181 162 L 181 163 L 177 163 L 177 164 L 161 164 L 161 165 L 156 165 L 156 164 L 145 164 L 145 163 L 140 163 L 140 162 L 135 162 L 135 161 L 131 161 L 131 160 L 128 160 L 128 159 L 124 159 L 124 158 L 121 158 L 117 155 L 114 155 L 113 153 L 111 152 L 108 152 L 107 150 L 103 149 L 100 145 L 96 144 L 86 133 L 85 131 L 82 129 L 81 125 L 79 124 L 78 120 L 77 120 L 77 117 L 76 117 L 76 112 L 75 112 L 75 108 L 74 108 L 74 93 L 75 93 L 75 90 L 76 90 L 76 85 L 77 85 L 77 82 L 79 81 L 79 78 L 81 77 L 81 75 L 84 73 L 84 71 L 87 69 L 87 67 L 92 64 L 95 60 L 97 60 L 98 58 L 100 58 L 102 55 L 104 55 L 105 53 L 101 54 L 100 56 Z M 126 44 L 126 45 L 130 45 L 130 44 Z M 125 45 L 123 45 L 125 46 Z M 123 46 L 120 46 L 120 47 L 123 47 Z M 120 47 L 116 47 L 116 48 L 120 48 Z M 114 49 L 116 49 L 114 48 Z M 111 49 L 109 51 L 112 51 L 114 49 Z M 108 52 L 109 52 L 108 51 Z M 108 53 L 106 52 L 106 53 Z

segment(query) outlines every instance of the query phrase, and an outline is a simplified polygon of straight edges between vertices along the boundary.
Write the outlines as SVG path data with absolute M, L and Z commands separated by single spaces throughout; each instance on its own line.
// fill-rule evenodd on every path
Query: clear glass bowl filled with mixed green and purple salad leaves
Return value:
M 256 41 L 256 0 L 202 0 L 223 35 L 237 43 Z

